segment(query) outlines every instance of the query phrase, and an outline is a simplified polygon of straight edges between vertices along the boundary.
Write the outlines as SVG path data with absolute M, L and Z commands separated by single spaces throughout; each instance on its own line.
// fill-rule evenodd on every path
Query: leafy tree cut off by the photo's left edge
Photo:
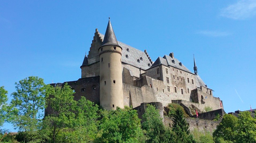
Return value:
M 4 89 L 4 86 L 0 87 L 0 127 L 3 125 L 3 123 L 6 121 L 6 112 L 7 112 L 7 93 Z

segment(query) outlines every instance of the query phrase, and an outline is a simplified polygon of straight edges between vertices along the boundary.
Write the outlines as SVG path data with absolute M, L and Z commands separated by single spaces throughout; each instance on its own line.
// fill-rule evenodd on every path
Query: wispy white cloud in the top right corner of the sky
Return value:
M 248 19 L 256 14 L 255 0 L 239 0 L 221 10 L 220 15 L 236 20 Z

